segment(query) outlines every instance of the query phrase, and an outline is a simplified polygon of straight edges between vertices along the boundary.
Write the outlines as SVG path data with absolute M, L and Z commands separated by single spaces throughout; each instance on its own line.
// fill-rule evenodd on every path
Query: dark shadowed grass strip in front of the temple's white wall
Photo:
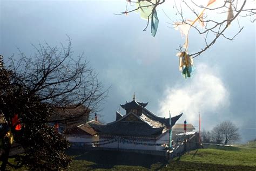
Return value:
M 163 165 L 165 161 L 160 156 L 111 151 L 70 150 L 68 154 L 73 156 L 70 170 L 149 170 L 154 163 Z

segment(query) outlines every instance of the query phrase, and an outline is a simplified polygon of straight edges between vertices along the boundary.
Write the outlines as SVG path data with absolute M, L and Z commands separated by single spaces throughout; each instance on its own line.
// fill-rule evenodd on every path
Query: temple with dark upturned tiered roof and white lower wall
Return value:
M 89 123 L 98 133 L 99 147 L 161 151 L 169 143 L 170 118 L 162 118 L 147 110 L 148 102 L 133 100 L 120 105 L 126 113 L 116 111 L 116 120 L 106 125 Z M 182 113 L 171 118 L 171 125 Z

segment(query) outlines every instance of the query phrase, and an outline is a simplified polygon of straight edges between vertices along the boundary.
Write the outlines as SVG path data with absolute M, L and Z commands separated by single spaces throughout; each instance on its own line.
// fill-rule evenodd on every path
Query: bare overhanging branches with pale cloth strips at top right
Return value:
M 172 25 L 171 28 L 178 28 L 186 38 L 184 45 L 179 45 L 177 50 L 188 53 L 188 35 L 191 29 L 196 30 L 200 37 L 204 37 L 205 45 L 202 45 L 199 50 L 193 49 L 194 52 L 189 54 L 192 58 L 198 57 L 201 53 L 205 52 L 214 45 L 220 37 L 234 40 L 242 29 L 244 29 L 238 22 L 237 32 L 234 33 L 233 36 L 227 36 L 225 34 L 227 28 L 234 22 L 234 20 L 238 21 L 238 18 L 241 17 L 250 18 L 251 22 L 255 22 L 256 20 L 256 5 L 253 0 L 225 0 L 222 3 L 217 3 L 216 0 L 186 0 L 172 2 L 173 8 L 171 10 L 176 15 L 167 15 L 170 19 L 170 24 Z M 147 24 L 143 31 L 147 30 L 151 20 L 151 33 L 152 36 L 155 36 L 159 22 L 157 12 L 160 11 L 158 10 L 161 9 L 160 6 L 164 6 L 166 3 L 165 0 L 127 0 L 126 9 L 120 14 L 127 15 L 133 11 L 140 12 L 140 16 L 147 20 Z M 171 6 L 170 3 L 171 2 L 167 5 Z M 252 5 L 246 5 L 248 3 L 252 3 Z M 209 15 L 209 13 L 212 13 L 215 16 Z M 218 17 L 216 17 L 216 15 Z M 179 19 L 177 19 L 177 16 Z M 199 23 L 199 26 L 197 23 Z

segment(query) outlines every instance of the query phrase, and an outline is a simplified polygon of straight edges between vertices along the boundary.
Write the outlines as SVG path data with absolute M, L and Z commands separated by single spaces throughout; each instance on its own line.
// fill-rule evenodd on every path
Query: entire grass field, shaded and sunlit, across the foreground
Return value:
M 256 170 L 256 141 L 233 147 L 209 146 L 166 161 L 146 154 L 68 151 L 69 170 Z M 24 170 L 19 169 L 19 170 Z

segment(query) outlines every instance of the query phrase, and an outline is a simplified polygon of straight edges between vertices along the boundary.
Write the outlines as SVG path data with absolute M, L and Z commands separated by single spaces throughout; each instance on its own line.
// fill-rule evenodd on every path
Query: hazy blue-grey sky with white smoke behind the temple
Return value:
M 165 6 L 164 6 L 165 5 Z M 255 4 L 254 4 L 255 5 Z M 74 56 L 82 54 L 98 72 L 99 80 L 110 87 L 99 120 L 111 122 L 120 104 L 136 99 L 149 102 L 153 113 L 168 117 L 184 113 L 184 120 L 198 129 L 210 131 L 224 120 L 240 128 L 246 142 L 256 138 L 255 112 L 255 23 L 240 18 L 244 30 L 230 41 L 220 38 L 194 59 L 194 77 L 184 79 L 176 57 L 180 32 L 170 29 L 171 4 L 158 10 L 156 37 L 146 20 L 136 12 L 114 15 L 125 10 L 125 1 L 14 1 L 0 0 L 0 54 L 10 57 L 18 48 L 27 56 L 35 52 L 32 44 L 52 46 L 72 40 Z M 227 35 L 238 31 L 232 23 Z M 203 37 L 190 32 L 191 53 L 203 47 Z M 121 108 L 121 113 L 125 111 Z

